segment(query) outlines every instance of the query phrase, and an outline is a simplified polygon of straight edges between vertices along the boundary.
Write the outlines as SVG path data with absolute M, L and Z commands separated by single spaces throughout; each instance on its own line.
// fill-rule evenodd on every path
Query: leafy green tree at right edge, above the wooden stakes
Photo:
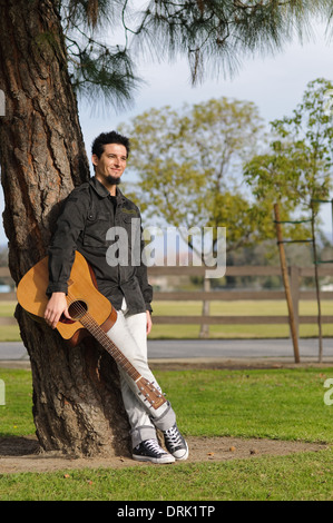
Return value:
M 271 150 L 245 166 L 246 184 L 256 201 L 265 203 L 267 210 L 280 203 L 285 220 L 311 219 L 312 209 L 317 215 L 320 200 L 329 198 L 332 189 L 333 126 L 326 110 L 331 89 L 329 80 L 311 81 L 293 116 L 272 122 Z M 302 238 L 306 229 L 311 236 L 310 225 L 291 224 L 285 227 L 286 237 Z M 274 224 L 267 234 L 274 235 Z

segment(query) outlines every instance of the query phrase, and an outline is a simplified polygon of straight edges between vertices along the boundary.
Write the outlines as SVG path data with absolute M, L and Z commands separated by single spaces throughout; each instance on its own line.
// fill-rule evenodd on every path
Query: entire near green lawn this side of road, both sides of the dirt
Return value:
M 333 444 L 333 368 L 155 372 L 186 435 Z M 33 433 L 31 374 L 0 368 L 1 432 Z M 219 463 L 0 474 L 0 500 L 333 500 L 332 450 Z

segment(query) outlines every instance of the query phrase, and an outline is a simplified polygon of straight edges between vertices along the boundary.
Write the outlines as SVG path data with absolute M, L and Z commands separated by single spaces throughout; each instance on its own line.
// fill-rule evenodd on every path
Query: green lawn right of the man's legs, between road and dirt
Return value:
M 333 443 L 333 407 L 323 401 L 333 368 L 155 374 L 187 434 Z

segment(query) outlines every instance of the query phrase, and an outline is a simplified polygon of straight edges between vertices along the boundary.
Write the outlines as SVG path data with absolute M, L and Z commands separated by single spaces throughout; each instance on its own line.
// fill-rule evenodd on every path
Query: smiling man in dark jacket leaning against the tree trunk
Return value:
M 67 198 L 49 248 L 47 294 L 50 299 L 45 319 L 55 328 L 62 314 L 70 318 L 66 300 L 67 282 L 77 249 L 92 267 L 99 292 L 117 309 L 117 320 L 108 336 L 136 369 L 160 389 L 147 363 L 153 290 L 141 259 L 144 244 L 140 227 L 137 227 L 140 213 L 117 187 L 126 168 L 129 148 L 128 138 L 115 131 L 99 135 L 92 144 L 95 177 L 75 188 Z M 123 244 L 117 245 L 118 236 L 112 231 L 119 233 Z M 123 231 L 126 234 L 120 234 Z M 127 256 L 120 256 L 121 249 Z M 134 460 L 153 463 L 186 460 L 188 447 L 177 428 L 169 402 L 154 409 L 120 367 L 119 374 L 131 427 Z M 163 431 L 168 452 L 159 446 L 156 428 Z

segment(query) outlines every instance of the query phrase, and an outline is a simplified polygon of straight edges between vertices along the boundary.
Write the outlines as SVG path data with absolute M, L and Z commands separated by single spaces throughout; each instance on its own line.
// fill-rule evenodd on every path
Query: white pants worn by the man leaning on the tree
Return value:
M 160 391 L 147 362 L 146 313 L 129 316 L 124 304 L 117 314 L 117 320 L 107 335 L 138 373 Z M 147 399 L 145 401 L 128 374 L 119 365 L 118 368 L 123 401 L 131 427 L 131 443 L 135 447 L 145 440 L 156 438 L 156 427 L 160 431 L 170 428 L 176 423 L 176 415 L 169 402 L 155 409 Z

